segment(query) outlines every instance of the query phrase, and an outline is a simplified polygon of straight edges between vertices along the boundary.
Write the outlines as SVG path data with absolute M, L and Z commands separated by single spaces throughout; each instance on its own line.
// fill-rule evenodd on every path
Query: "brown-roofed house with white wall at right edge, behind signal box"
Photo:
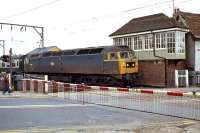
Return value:
M 200 14 L 176 9 L 173 17 L 176 21 L 182 22 L 190 31 L 186 34 L 187 69 L 190 71 L 190 83 L 200 83 Z

